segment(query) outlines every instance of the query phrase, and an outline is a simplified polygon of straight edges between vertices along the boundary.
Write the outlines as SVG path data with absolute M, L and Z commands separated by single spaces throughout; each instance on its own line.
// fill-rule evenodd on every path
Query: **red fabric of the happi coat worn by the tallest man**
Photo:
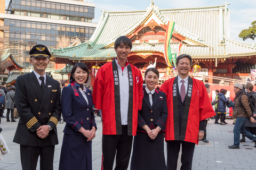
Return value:
M 136 135 L 138 125 L 138 110 L 141 110 L 142 106 L 143 79 L 140 70 L 134 65 L 130 65 L 132 69 L 134 83 L 132 124 L 129 124 L 128 121 L 128 129 L 129 127 L 131 129 L 132 127 L 132 131 L 130 131 L 131 133 L 128 131 L 128 135 Z M 93 104 L 95 105 L 95 108 L 102 109 L 102 134 L 117 134 L 116 127 L 118 125 L 115 113 L 116 106 L 112 62 L 106 63 L 105 65 L 100 67 L 99 71 L 97 72 L 97 76 L 93 84 Z

